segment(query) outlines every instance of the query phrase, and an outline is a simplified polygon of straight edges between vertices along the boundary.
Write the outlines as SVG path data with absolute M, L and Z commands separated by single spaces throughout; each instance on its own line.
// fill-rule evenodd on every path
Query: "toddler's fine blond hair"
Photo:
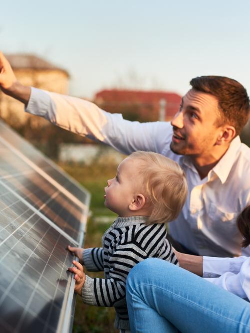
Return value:
M 129 158 L 140 160 L 143 194 L 152 205 L 148 223 L 170 222 L 179 215 L 188 195 L 185 172 L 174 161 L 152 152 L 134 152 Z

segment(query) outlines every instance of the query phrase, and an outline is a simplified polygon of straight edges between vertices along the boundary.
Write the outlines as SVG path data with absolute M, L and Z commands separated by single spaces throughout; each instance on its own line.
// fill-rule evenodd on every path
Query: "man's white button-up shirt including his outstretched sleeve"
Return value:
M 250 204 L 250 148 L 239 137 L 201 180 L 189 156 L 171 151 L 173 132 L 168 122 L 130 122 L 91 102 L 35 88 L 26 111 L 124 154 L 152 151 L 176 161 L 186 171 L 189 193 L 180 215 L 169 223 L 172 237 L 199 255 L 250 255 L 250 246 L 242 251 L 236 225 L 237 215 Z

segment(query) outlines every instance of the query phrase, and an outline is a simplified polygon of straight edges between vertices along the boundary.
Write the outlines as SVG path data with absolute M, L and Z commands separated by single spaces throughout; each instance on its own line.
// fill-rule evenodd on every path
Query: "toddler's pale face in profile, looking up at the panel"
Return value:
M 140 191 L 141 176 L 137 171 L 138 161 L 132 158 L 123 160 L 114 178 L 107 180 L 105 191 L 105 206 L 119 216 L 129 216 L 128 206 L 136 191 Z

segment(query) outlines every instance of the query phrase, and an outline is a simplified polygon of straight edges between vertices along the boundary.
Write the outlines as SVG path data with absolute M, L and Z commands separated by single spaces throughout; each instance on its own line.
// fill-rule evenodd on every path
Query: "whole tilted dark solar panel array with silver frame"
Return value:
M 0 332 L 69 332 L 89 193 L 30 147 L 0 123 Z

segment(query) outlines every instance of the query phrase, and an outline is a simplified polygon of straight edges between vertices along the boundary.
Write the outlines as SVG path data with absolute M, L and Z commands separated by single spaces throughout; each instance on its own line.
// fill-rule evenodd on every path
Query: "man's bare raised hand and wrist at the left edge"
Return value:
M 31 88 L 17 81 L 15 74 L 2 52 L 0 52 L 0 88 L 6 94 L 18 101 L 28 104 Z

